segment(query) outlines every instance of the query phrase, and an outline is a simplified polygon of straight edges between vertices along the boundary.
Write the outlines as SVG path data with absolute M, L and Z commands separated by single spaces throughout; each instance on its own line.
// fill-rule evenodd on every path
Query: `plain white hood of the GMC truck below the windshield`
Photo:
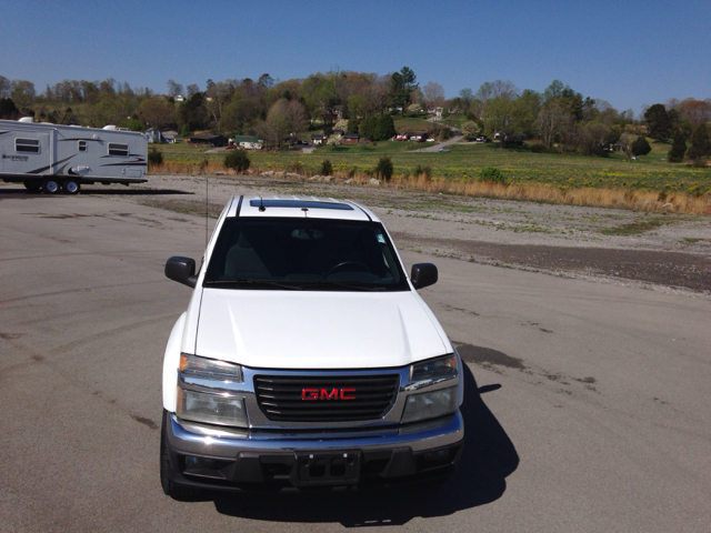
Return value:
M 449 353 L 414 292 L 204 289 L 196 354 L 262 369 L 403 366 Z

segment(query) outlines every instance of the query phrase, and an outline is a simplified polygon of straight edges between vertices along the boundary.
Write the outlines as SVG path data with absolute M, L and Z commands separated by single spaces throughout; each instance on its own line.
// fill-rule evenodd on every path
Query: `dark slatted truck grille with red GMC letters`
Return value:
M 399 374 L 254 375 L 257 402 L 264 415 L 288 422 L 380 419 L 394 403 L 399 383 Z M 313 391 L 317 398 L 303 399 L 304 394 L 313 398 Z

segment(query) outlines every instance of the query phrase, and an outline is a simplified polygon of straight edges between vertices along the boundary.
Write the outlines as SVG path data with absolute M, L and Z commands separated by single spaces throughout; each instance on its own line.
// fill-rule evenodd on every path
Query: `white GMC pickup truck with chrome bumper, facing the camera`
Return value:
M 378 217 L 318 198 L 231 199 L 163 361 L 160 475 L 200 489 L 388 484 L 451 475 L 462 363 Z

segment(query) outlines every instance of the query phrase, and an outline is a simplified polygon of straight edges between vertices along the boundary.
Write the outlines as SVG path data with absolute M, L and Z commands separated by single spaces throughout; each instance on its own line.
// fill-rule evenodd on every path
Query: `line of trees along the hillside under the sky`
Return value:
M 708 137 L 711 121 L 711 99 L 655 103 L 635 120 L 632 110 L 618 111 L 560 80 L 542 92 L 519 90 L 511 81 L 487 81 L 477 91 L 464 88 L 448 100 L 442 86 L 430 81 L 420 87 L 408 67 L 385 76 L 330 71 L 286 81 L 264 73 L 257 80 L 208 80 L 204 90 L 169 80 L 164 94 L 132 89 L 112 78 L 64 80 L 38 92 L 31 81 L 0 76 L 0 118 L 30 114 L 39 121 L 90 127 L 174 128 L 183 135 L 196 130 L 257 134 L 268 145 L 279 145 L 290 133 L 307 129 L 328 132 L 339 118 L 348 119 L 349 131 L 388 139 L 394 127 L 383 117 L 422 117 L 433 108 L 442 110 L 443 119 L 452 112 L 463 114 L 468 137 L 485 134 L 503 144 L 539 139 L 537 151 L 604 157 L 611 147 L 623 147 L 630 154 L 633 141 L 647 132 L 675 143 L 671 161 L 680 160 L 681 145 L 685 148 L 694 135 Z M 643 142 L 638 142 L 635 152 L 644 152 Z M 697 159 L 698 153 L 687 155 Z

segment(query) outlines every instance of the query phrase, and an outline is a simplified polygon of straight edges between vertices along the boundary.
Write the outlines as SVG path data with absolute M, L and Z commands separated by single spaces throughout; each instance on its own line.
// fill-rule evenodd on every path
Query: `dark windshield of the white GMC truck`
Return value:
M 204 285 L 250 290 L 409 290 L 380 223 L 303 218 L 226 220 Z

